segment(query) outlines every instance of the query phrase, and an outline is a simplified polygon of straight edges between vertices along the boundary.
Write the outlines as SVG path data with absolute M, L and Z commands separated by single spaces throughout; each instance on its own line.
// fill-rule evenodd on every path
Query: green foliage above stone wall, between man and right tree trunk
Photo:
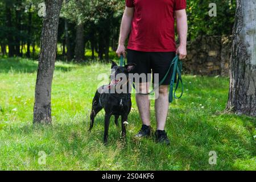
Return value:
M 217 16 L 209 16 L 210 0 L 187 1 L 188 38 L 199 35 L 231 35 L 236 11 L 236 0 L 216 0 Z

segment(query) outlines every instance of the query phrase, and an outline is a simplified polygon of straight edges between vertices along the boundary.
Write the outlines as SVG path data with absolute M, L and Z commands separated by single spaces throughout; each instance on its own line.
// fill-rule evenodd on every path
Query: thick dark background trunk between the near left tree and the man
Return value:
M 78 23 L 76 27 L 76 61 L 84 60 L 85 42 L 84 42 L 84 23 Z

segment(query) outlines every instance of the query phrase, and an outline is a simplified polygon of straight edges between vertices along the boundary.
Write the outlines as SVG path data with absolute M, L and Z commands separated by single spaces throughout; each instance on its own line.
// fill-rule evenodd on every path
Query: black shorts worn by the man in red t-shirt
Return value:
M 159 74 L 159 82 L 166 75 L 168 68 L 170 67 L 171 61 L 176 56 L 176 52 L 142 52 L 127 49 L 127 63 L 136 64 L 132 73 L 144 74 Z M 173 67 L 173 66 L 172 66 Z M 168 73 L 166 80 L 162 85 L 170 85 L 173 68 Z M 135 81 L 135 80 L 134 80 Z M 146 80 L 149 82 L 150 80 Z M 145 82 L 142 79 L 139 82 Z M 154 83 L 154 75 L 152 76 L 152 82 Z M 176 76 L 175 76 L 176 82 Z

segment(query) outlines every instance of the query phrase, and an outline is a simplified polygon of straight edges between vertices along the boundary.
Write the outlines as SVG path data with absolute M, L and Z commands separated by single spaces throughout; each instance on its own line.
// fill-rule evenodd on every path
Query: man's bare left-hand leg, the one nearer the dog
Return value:
M 137 84 L 136 88 L 141 93 L 148 93 L 150 83 L 141 83 Z M 148 96 L 144 96 L 141 94 L 136 94 L 136 102 L 139 110 L 139 114 L 141 115 L 143 125 L 150 126 L 150 100 Z

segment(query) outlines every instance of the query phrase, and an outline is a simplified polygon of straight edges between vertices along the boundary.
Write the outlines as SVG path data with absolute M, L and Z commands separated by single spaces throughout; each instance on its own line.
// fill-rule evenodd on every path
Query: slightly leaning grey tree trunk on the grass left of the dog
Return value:
M 34 123 L 51 123 L 51 89 L 55 67 L 57 30 L 63 0 L 46 0 L 38 75 L 36 77 Z

